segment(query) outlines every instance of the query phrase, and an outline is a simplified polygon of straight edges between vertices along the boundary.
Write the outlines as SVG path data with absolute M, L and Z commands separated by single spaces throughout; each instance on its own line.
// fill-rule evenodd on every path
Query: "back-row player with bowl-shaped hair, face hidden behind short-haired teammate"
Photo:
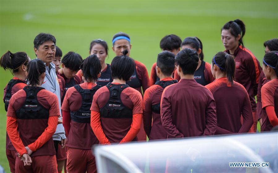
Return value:
M 174 34 L 166 35 L 160 40 L 160 49 L 168 50 L 176 55 L 181 49 L 182 40 L 180 37 Z M 152 65 L 151 75 L 150 75 L 150 85 L 154 85 L 159 81 L 159 77 L 156 74 L 156 63 Z

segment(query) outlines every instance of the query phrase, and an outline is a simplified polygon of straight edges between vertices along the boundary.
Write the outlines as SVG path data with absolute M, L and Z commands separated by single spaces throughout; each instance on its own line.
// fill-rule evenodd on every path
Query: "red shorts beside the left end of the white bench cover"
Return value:
M 90 149 L 68 148 L 66 171 L 69 173 L 96 173 L 96 160 Z

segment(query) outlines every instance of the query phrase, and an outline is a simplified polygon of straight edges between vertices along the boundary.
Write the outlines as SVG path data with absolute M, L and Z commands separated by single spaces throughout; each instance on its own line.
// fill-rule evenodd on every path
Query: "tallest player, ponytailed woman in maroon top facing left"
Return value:
M 247 90 L 253 112 L 253 125 L 249 132 L 257 131 L 257 110 L 255 96 L 257 95 L 259 75 L 262 71 L 258 59 L 243 45 L 245 24 L 236 19 L 227 22 L 221 29 L 221 40 L 225 52 L 232 55 L 236 62 L 235 81 L 242 84 Z

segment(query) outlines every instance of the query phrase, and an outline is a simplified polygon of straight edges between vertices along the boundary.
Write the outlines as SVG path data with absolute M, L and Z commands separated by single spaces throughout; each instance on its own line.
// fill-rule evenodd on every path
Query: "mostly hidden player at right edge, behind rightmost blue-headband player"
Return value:
M 278 51 L 278 39 L 274 38 L 271 40 L 267 40 L 263 43 L 263 46 L 265 47 L 265 53 L 269 51 Z M 262 86 L 269 82 L 270 80 L 267 80 L 263 71 L 260 74 L 259 77 L 259 84 L 258 84 L 258 94 L 257 94 L 257 114 L 258 114 L 258 120 L 260 125 L 262 126 L 262 102 L 261 102 L 261 89 Z

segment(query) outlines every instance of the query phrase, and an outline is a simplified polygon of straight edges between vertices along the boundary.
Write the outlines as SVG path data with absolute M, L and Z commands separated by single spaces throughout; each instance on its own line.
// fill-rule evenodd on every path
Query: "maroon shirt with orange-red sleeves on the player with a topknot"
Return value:
M 117 84 L 117 83 L 114 83 Z M 97 90 L 93 97 L 91 107 L 91 127 L 101 144 L 132 141 L 140 130 L 143 114 L 143 100 L 141 94 L 128 87 L 121 93 L 123 104 L 132 109 L 132 123 L 130 128 L 123 129 L 123 123 L 129 123 L 129 119 L 102 118 L 100 109 L 109 100 L 109 90 L 106 86 Z

